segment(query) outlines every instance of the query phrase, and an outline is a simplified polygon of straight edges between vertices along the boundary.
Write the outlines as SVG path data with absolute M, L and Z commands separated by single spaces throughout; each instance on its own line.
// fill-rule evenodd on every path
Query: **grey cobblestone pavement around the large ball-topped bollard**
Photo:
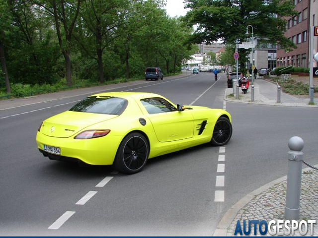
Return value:
M 301 187 L 301 199 L 300 199 L 300 219 L 302 220 L 316 220 L 314 224 L 313 236 L 318 236 L 318 171 L 305 170 L 302 174 L 302 187 Z M 239 210 L 235 219 L 227 229 L 226 236 L 234 236 L 236 225 L 238 220 L 240 221 L 241 228 L 243 229 L 243 220 L 265 220 L 267 223 L 270 220 L 285 220 L 285 203 L 286 203 L 286 187 L 287 181 L 281 181 L 269 187 L 265 191 L 261 192 Z M 247 228 L 246 228 L 247 230 Z M 283 230 L 287 231 L 286 229 Z M 253 233 L 253 227 L 251 226 L 251 233 Z M 261 236 L 257 229 L 256 236 Z M 237 236 L 240 236 L 239 233 Z M 245 236 L 245 235 L 243 235 Z M 252 235 L 254 236 L 254 235 Z M 270 236 L 269 233 L 266 236 Z M 290 235 L 292 236 L 292 235 Z M 294 236 L 301 236 L 298 231 Z M 306 236 L 310 236 L 310 230 Z

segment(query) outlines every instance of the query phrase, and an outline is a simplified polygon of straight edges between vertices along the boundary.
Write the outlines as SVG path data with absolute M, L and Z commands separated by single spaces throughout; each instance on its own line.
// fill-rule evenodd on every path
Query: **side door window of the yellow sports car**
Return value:
M 140 100 L 149 114 L 168 113 L 177 109 L 163 98 L 145 98 Z

